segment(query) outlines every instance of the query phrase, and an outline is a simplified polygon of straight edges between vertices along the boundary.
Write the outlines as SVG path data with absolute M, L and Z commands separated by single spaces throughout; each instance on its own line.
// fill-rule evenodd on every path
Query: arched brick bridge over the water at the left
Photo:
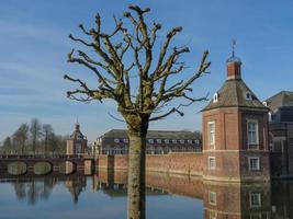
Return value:
M 18 175 L 91 174 L 94 159 L 91 155 L 0 155 L 0 177 Z

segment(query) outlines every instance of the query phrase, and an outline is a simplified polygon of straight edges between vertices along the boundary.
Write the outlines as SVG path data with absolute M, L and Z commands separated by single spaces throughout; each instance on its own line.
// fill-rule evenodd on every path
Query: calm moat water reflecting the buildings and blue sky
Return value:
M 126 174 L 0 180 L 0 218 L 126 218 Z M 148 219 L 292 218 L 293 182 L 214 184 L 147 174 Z

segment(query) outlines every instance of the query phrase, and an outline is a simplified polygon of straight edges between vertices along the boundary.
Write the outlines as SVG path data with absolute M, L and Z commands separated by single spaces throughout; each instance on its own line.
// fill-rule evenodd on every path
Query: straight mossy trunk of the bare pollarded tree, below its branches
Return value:
M 145 219 L 146 134 L 128 134 L 127 219 Z

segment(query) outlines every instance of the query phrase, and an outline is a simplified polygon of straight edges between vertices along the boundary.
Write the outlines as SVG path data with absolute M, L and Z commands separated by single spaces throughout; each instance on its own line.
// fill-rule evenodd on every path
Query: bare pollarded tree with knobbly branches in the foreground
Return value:
M 127 218 L 142 219 L 145 218 L 145 148 L 148 125 L 173 113 L 183 116 L 182 107 L 205 99 L 191 95 L 191 84 L 206 72 L 210 62 L 206 61 L 207 51 L 204 51 L 198 69 L 188 79 L 172 79 L 187 70 L 185 64 L 179 58 L 189 53 L 189 48 L 171 47 L 173 37 L 182 27 L 170 30 L 159 47 L 157 36 L 161 24 L 154 22 L 149 25 L 145 18 L 150 9 L 137 5 L 129 5 L 128 9 L 124 12 L 123 20 L 114 16 L 115 27 L 111 33 L 102 31 L 101 18 L 97 14 L 94 28 L 87 30 L 82 24 L 79 25 L 88 39 L 69 35 L 88 50 L 72 49 L 68 54 L 68 62 L 89 69 L 97 77 L 98 84 L 90 88 L 82 79 L 68 74 L 64 78 L 79 85 L 67 92 L 71 100 L 102 102 L 110 99 L 116 102 L 129 138 Z M 97 55 L 99 58 L 95 58 Z M 170 107 L 169 104 L 177 99 L 180 99 L 180 103 Z

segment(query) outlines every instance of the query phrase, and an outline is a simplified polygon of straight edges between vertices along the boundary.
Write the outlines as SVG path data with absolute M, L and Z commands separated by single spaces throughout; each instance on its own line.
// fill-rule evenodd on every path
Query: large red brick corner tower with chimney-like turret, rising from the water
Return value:
M 227 79 L 203 110 L 203 175 L 215 181 L 269 181 L 268 108 L 227 60 Z

